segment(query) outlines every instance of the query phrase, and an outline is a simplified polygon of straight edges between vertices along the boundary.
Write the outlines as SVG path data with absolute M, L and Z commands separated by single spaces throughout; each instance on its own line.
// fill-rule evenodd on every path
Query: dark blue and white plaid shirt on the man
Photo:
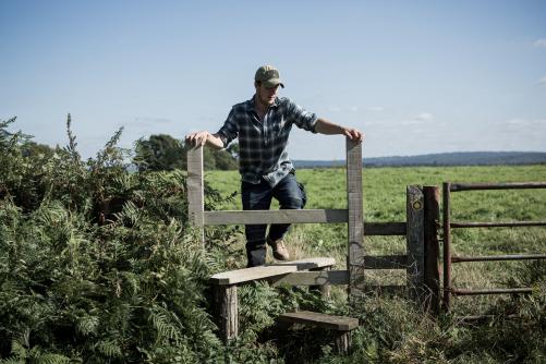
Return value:
M 223 126 L 216 133 L 227 147 L 239 137 L 239 172 L 244 182 L 262 179 L 275 186 L 294 166 L 288 157 L 288 137 L 292 124 L 316 133 L 316 113 L 305 111 L 286 97 L 277 97 L 264 119 L 254 110 L 254 97 L 231 109 Z

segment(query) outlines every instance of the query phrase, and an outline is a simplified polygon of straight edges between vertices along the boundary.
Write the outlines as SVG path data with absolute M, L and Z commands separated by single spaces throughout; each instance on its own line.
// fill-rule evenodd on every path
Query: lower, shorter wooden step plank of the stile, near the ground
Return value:
M 337 331 L 350 331 L 359 327 L 357 318 L 319 314 L 311 311 L 286 313 L 280 315 L 278 319 L 283 323 L 314 325 Z

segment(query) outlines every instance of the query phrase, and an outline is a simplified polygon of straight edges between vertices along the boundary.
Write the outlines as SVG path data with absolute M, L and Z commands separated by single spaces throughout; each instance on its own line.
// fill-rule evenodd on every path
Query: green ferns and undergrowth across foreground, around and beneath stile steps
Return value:
M 340 291 L 323 300 L 253 283 L 239 290 L 240 336 L 226 345 L 207 280 L 240 265 L 240 231 L 207 229 L 203 248 L 187 223 L 184 172 L 131 171 L 121 130 L 84 161 L 70 116 L 68 145 L 54 149 L 10 133 L 14 121 L 0 122 L 0 363 L 544 361 L 544 262 L 505 282 L 535 292 L 501 301 L 486 325 L 434 319 L 400 298 L 349 305 Z M 214 209 L 222 197 L 205 189 Z M 349 355 L 333 352 L 328 332 L 277 328 L 292 310 L 357 317 Z

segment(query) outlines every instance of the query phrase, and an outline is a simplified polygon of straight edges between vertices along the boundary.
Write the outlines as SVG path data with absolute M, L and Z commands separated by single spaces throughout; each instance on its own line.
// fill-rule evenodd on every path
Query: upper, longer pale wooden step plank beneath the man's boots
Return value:
M 335 264 L 336 259 L 324 258 L 324 257 L 282 262 L 269 266 L 222 271 L 211 276 L 210 282 L 213 284 L 219 284 L 219 286 L 236 284 L 253 280 L 267 279 L 276 276 L 287 275 L 298 270 L 330 267 Z

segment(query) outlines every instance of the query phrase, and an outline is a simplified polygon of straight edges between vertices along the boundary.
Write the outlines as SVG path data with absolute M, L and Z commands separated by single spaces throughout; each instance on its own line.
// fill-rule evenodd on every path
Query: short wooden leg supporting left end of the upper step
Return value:
M 239 335 L 239 301 L 236 284 L 216 287 L 216 317 L 223 342 L 228 342 Z

